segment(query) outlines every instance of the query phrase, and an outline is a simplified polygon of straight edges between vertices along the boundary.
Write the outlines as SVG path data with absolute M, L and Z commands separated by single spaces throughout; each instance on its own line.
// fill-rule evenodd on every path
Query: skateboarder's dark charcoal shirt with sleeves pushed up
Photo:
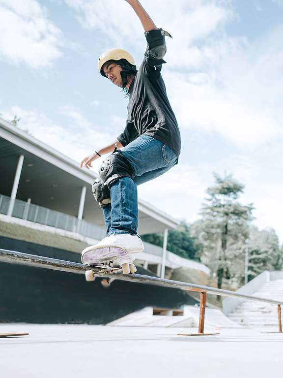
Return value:
M 163 59 L 145 56 L 129 88 L 128 119 L 117 139 L 125 147 L 140 135 L 150 135 L 180 155 L 181 138 L 176 117 L 161 76 Z

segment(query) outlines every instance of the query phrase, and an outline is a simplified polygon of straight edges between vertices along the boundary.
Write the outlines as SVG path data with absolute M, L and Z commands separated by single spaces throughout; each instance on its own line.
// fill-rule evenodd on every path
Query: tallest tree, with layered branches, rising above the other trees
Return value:
M 222 178 L 214 174 L 214 178 L 215 185 L 207 189 L 201 221 L 192 225 L 191 236 L 198 238 L 201 261 L 216 275 L 221 288 L 224 279 L 240 279 L 244 272 L 243 246 L 253 206 L 238 202 L 244 186 L 232 175 Z

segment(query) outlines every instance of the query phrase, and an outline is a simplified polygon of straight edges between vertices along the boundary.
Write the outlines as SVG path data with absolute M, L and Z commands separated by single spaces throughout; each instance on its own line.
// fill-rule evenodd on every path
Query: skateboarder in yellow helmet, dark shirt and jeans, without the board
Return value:
M 166 94 L 161 68 L 166 63 L 165 36 L 157 29 L 138 0 L 127 1 L 138 15 L 147 41 L 139 70 L 125 50 L 104 52 L 98 61 L 102 76 L 129 96 L 128 118 L 124 131 L 113 144 L 95 151 L 81 162 L 81 168 L 110 154 L 99 170 L 92 189 L 100 203 L 107 237 L 89 249 L 122 247 L 128 253 L 142 252 L 138 229 L 137 185 L 152 180 L 177 164 L 181 140 L 178 124 Z M 168 185 L 175 185 L 170 184 Z M 84 254 L 85 251 L 82 252 Z

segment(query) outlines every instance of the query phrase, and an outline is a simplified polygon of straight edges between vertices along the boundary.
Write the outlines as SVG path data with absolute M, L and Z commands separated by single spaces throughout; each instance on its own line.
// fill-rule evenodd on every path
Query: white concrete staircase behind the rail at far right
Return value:
M 283 279 L 263 284 L 253 295 L 283 301 Z M 278 326 L 276 305 L 264 302 L 245 301 L 228 314 L 232 321 L 250 327 Z

